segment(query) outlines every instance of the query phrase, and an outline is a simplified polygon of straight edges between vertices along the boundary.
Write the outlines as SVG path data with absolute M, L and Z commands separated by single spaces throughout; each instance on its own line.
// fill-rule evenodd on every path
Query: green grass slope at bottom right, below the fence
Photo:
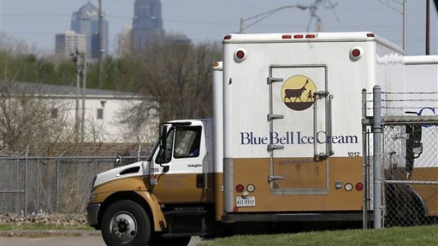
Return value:
M 234 236 L 198 246 L 435 246 L 438 226 Z

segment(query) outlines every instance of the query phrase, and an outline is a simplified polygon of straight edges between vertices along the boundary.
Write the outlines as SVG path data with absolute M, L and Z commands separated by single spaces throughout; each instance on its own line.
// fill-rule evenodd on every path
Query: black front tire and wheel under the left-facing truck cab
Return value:
M 152 231 L 147 213 L 130 200 L 111 204 L 103 214 L 100 228 L 107 246 L 145 246 Z

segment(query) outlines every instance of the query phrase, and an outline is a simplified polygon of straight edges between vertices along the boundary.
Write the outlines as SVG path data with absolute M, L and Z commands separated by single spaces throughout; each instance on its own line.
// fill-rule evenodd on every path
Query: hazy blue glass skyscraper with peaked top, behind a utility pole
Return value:
M 99 10 L 90 2 L 82 5 L 71 16 L 71 30 L 87 36 L 88 57 L 96 59 L 99 56 Z M 108 21 L 103 19 L 103 49 L 108 50 Z

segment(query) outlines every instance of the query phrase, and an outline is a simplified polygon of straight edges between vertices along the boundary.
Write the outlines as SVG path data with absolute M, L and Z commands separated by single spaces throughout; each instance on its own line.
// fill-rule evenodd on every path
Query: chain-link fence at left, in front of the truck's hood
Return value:
M 0 213 L 83 213 L 93 177 L 146 156 L 0 157 Z

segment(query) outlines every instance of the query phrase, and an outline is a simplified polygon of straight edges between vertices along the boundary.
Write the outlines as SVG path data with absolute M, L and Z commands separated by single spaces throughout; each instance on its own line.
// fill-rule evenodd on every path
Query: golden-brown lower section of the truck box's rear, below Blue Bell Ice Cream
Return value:
M 302 162 L 297 165 L 297 159 L 277 159 L 286 164 L 282 165 L 281 173 L 287 188 L 325 188 L 326 170 L 328 169 L 328 189 L 325 195 L 271 195 L 268 183 L 269 159 L 233 159 L 233 185 L 255 185 L 255 191 L 249 196 L 255 197 L 254 207 L 239 207 L 238 212 L 306 212 L 306 211 L 360 211 L 362 209 L 363 193 L 356 191 L 356 183 L 362 183 L 362 159 L 355 158 L 329 158 L 327 165 L 314 165 Z M 290 163 L 291 165 L 287 165 Z M 305 166 L 308 164 L 307 166 Z M 277 168 L 279 166 L 276 165 Z M 278 171 L 278 170 L 277 170 Z M 275 173 L 277 175 L 277 173 Z M 296 182 L 293 183 L 293 179 Z M 335 189 L 335 182 L 341 182 L 342 188 Z M 278 182 L 278 181 L 276 181 Z M 345 191 L 344 185 L 351 183 L 352 191 Z M 275 187 L 274 187 L 275 188 Z M 241 193 L 234 190 L 233 203 L 241 197 Z

